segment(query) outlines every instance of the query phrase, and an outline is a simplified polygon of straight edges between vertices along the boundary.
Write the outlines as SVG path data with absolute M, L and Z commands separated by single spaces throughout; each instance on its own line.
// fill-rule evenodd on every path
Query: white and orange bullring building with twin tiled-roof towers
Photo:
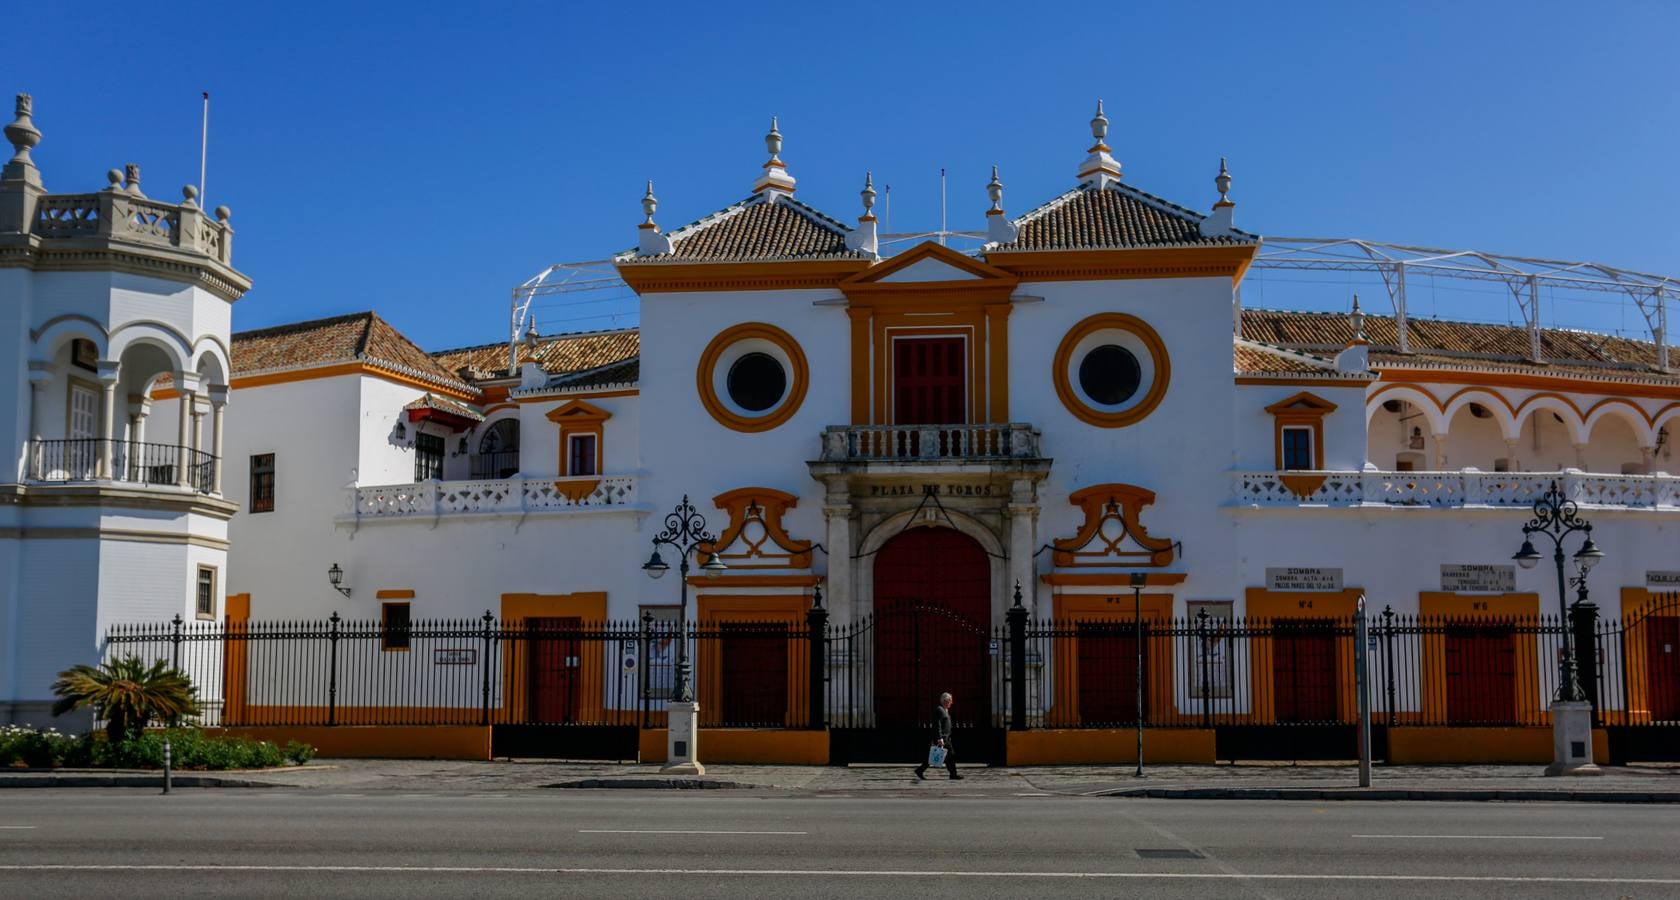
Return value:
M 1418 729 L 1410 752 L 1537 746 L 1549 759 L 1556 660 L 1539 636 L 1500 628 L 1559 610 L 1551 562 L 1512 562 L 1556 484 L 1608 552 L 1588 583 L 1599 615 L 1638 620 L 1646 641 L 1636 667 L 1599 673 L 1603 712 L 1680 719 L 1660 709 L 1680 690 L 1680 648 L 1662 650 L 1680 621 L 1662 594 L 1680 579 L 1680 479 L 1665 474 L 1680 374 L 1667 354 L 1574 331 L 1243 309 L 1263 240 L 1238 227 L 1225 166 L 1181 207 L 1122 175 L 1100 109 L 1090 124 L 1067 193 L 1011 213 L 993 175 L 974 254 L 926 242 L 882 255 L 874 186 L 860 215 L 811 208 L 773 128 L 739 203 L 667 228 L 647 186 L 640 227 L 627 217 L 620 232 L 635 249 L 613 260 L 638 296 L 637 329 L 427 351 L 361 312 L 232 334 L 215 453 L 227 472 L 208 495 L 237 512 L 215 618 L 339 613 L 415 633 L 427 620 L 541 621 L 570 635 L 558 650 L 496 663 L 464 628 L 433 646 L 449 653 L 403 665 L 452 667 L 470 685 L 482 672 L 484 724 L 494 705 L 531 725 L 645 732 L 662 707 L 645 702 L 655 660 L 637 630 L 674 616 L 677 576 L 650 579 L 642 564 L 687 497 L 727 566 L 689 588 L 690 618 L 712 636 L 697 646 L 712 759 L 840 761 L 823 725 L 890 729 L 900 695 L 922 717 L 939 678 L 961 697 L 959 725 L 1008 730 L 988 754 L 1010 762 L 1129 759 L 1137 715 L 1151 752 L 1186 761 L 1216 754 L 1221 715 L 1341 727 L 1352 690 L 1341 643 L 1273 630 L 1238 650 L 1208 635 L 1255 621 L 1309 633 L 1347 621 L 1359 598 L 1374 621 L 1388 610 L 1468 630 L 1418 638 L 1391 673 L 1403 683 L 1389 724 Z M 18 326 L 18 346 L 40 327 Z M 170 373 L 193 385 L 185 359 Z M 148 433 L 190 430 L 180 383 L 144 393 Z M 22 421 L 27 388 L 17 398 Z M 25 457 L 29 442 L 13 443 Z M 877 633 L 815 657 L 766 638 L 803 633 L 818 589 L 828 628 Z M 1137 688 L 1134 603 L 1159 635 L 1179 628 L 1149 640 L 1144 710 L 1087 683 Z M 1065 628 L 1035 631 L 1015 660 L 1011 616 Z M 376 650 L 412 651 L 408 636 Z M 1119 643 L 1080 650 L 1104 640 Z M 223 675 L 257 665 L 218 660 Z M 922 665 L 934 682 L 887 683 Z M 1453 719 L 1453 704 L 1483 704 L 1455 700 L 1470 680 L 1504 697 L 1494 705 L 1509 720 Z M 250 690 L 240 704 L 259 704 Z M 370 702 L 423 705 L 381 697 Z M 319 704 L 292 688 L 270 700 Z M 1011 730 L 1021 722 L 1038 727 Z M 662 752 L 638 740 L 643 757 Z M 847 754 L 865 757 L 862 746 Z

